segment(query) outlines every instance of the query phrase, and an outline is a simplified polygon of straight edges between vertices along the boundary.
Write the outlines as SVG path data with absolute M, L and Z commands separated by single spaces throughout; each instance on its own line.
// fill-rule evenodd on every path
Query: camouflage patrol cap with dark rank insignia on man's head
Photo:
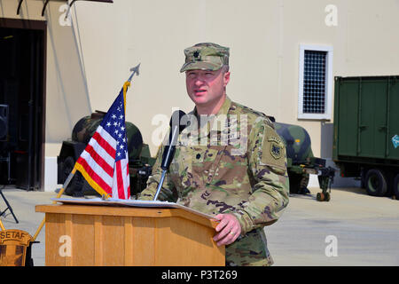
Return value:
M 197 43 L 184 50 L 185 63 L 180 72 L 187 70 L 215 71 L 229 65 L 229 48 L 216 43 Z

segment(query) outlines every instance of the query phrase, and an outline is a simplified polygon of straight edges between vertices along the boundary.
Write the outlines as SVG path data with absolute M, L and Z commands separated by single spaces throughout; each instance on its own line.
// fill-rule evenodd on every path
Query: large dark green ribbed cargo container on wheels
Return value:
M 333 161 L 367 193 L 399 199 L 399 76 L 335 77 Z

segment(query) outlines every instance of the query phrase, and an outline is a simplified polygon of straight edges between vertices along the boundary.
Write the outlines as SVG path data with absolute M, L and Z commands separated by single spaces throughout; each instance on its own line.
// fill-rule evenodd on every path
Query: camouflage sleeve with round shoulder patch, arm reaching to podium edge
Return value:
M 249 134 L 247 159 L 254 186 L 241 208 L 232 212 L 239 218 L 242 235 L 276 222 L 289 196 L 286 146 L 277 132 L 262 120 L 254 123 Z

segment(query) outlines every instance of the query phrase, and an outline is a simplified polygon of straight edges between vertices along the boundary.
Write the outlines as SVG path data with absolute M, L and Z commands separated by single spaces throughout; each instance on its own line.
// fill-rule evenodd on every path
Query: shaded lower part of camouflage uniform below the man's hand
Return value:
M 273 263 L 262 228 L 226 246 L 226 266 L 270 266 Z

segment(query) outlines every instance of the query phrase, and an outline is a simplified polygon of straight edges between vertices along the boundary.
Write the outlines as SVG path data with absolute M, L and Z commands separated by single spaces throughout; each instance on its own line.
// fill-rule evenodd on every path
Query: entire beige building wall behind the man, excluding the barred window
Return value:
M 108 109 L 138 63 L 127 120 L 156 154 L 160 114 L 168 122 L 174 107 L 192 110 L 179 69 L 184 48 L 194 43 L 229 46 L 231 99 L 303 126 L 317 156 L 323 122 L 298 119 L 300 44 L 332 47 L 333 76 L 399 75 L 396 0 L 113 2 L 77 1 L 68 26 L 60 24 L 63 2 L 51 1 L 41 17 L 41 1 L 24 1 L 16 15 L 17 1 L 0 0 L 0 17 L 48 20 L 46 156 L 59 154 L 59 143 L 80 117 Z M 329 27 L 325 9 L 331 4 L 337 18 Z

